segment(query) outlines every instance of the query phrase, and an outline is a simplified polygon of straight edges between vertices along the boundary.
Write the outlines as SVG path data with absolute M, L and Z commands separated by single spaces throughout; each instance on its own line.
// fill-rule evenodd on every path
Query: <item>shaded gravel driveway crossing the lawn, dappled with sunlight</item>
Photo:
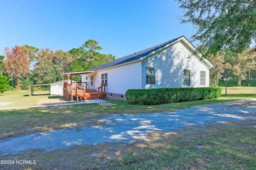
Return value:
M 145 139 L 152 131 L 172 132 L 181 127 L 195 127 L 208 123 L 227 123 L 256 119 L 256 98 L 218 104 L 208 104 L 165 113 L 108 115 L 98 124 L 76 129 L 60 129 L 32 133 L 0 140 L 0 153 L 16 154 L 28 149 L 67 148 L 72 145 L 97 144 L 102 142 L 134 143 Z

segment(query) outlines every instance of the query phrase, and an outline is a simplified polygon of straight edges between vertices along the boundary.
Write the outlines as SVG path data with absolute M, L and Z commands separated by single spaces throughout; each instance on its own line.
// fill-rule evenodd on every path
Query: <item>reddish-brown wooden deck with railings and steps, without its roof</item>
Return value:
M 86 84 L 85 86 L 80 86 L 81 84 Z M 95 99 L 104 99 L 106 97 L 106 86 L 101 84 L 98 87 L 98 91 L 94 89 L 87 89 L 87 83 L 79 82 L 68 84 L 64 82 L 63 86 L 63 96 L 68 100 L 95 100 Z

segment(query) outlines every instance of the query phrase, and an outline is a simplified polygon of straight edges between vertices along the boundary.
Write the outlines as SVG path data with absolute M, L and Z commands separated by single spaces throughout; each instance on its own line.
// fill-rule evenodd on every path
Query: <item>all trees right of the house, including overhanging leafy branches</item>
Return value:
M 191 23 L 196 32 L 192 41 L 209 59 L 212 86 L 256 86 L 256 0 L 176 0 L 183 15 L 181 23 Z M 197 52 L 197 51 L 196 51 Z M 220 80 L 220 81 L 219 81 Z

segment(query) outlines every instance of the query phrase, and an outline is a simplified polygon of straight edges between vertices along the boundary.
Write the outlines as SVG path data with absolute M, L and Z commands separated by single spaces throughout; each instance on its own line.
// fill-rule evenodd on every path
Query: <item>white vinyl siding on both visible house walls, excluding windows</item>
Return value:
M 148 78 L 148 84 L 147 68 L 154 68 L 154 81 Z M 97 90 L 104 74 L 104 82 L 107 80 L 108 84 L 106 92 L 125 94 L 128 89 L 188 87 L 184 85 L 184 70 L 190 70 L 189 87 L 209 86 L 209 65 L 194 56 L 190 47 L 181 40 L 145 58 L 84 74 L 82 81 L 93 75 L 93 88 Z M 201 71 L 205 72 L 205 85 L 200 83 Z

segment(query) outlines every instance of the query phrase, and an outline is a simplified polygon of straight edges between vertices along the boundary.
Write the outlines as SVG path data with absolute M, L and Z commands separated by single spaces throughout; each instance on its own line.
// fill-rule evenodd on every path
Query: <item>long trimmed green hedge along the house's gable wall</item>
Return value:
M 126 101 L 136 105 L 157 105 L 218 98 L 220 93 L 221 89 L 217 87 L 130 89 L 126 91 Z

